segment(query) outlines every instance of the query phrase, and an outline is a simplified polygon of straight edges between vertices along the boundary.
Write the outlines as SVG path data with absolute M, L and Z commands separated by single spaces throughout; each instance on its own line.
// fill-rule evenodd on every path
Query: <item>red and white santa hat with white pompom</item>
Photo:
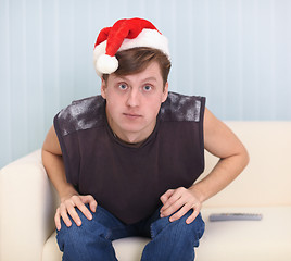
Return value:
M 103 28 L 96 41 L 93 63 L 97 74 L 114 73 L 118 69 L 117 51 L 135 47 L 161 50 L 169 58 L 167 38 L 155 26 L 142 18 L 119 20 L 112 27 Z

